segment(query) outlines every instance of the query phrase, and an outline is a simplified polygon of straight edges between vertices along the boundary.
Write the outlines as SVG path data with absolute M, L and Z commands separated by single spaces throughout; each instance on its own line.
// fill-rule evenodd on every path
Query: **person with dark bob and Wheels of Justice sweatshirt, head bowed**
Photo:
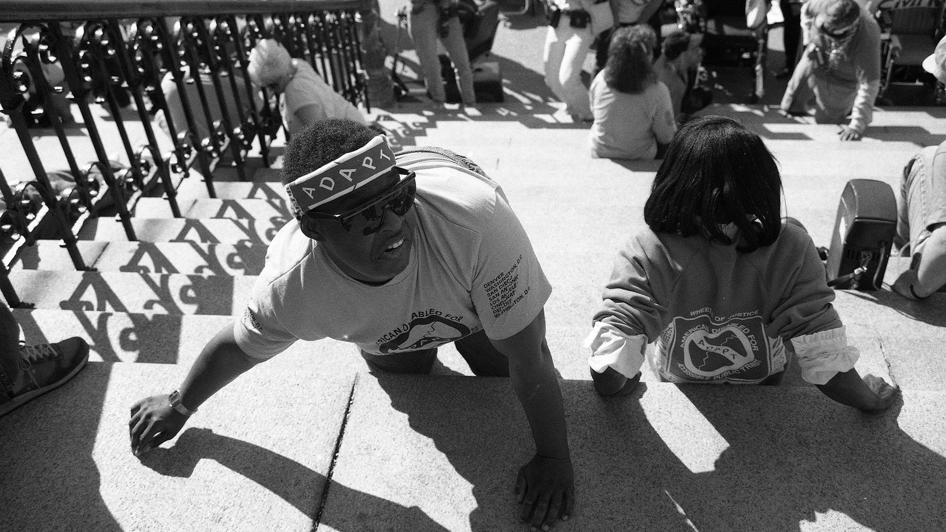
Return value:
M 644 206 L 648 227 L 619 252 L 586 340 L 598 393 L 630 393 L 652 343 L 662 381 L 778 384 L 794 361 L 837 402 L 893 403 L 898 388 L 854 369 L 815 243 L 781 223 L 780 190 L 772 154 L 736 120 L 680 129 Z

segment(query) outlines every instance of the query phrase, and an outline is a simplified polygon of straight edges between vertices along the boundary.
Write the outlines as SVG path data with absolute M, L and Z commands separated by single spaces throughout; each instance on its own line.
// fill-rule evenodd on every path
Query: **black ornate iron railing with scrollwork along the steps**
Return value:
M 160 0 L 93 4 L 20 0 L 0 10 L 14 23 L 0 58 L 0 108 L 9 116 L 32 175 L 11 188 L 0 170 L 0 292 L 22 306 L 8 276 L 18 251 L 32 245 L 41 222 L 61 238 L 77 270 L 90 270 L 77 244 L 84 222 L 115 214 L 136 240 L 131 209 L 142 195 L 162 194 L 181 218 L 178 188 L 192 171 L 217 197 L 213 175 L 236 168 L 248 181 L 257 151 L 269 167 L 272 141 L 283 128 L 278 96 L 254 87 L 248 55 L 260 39 L 274 38 L 305 58 L 326 83 L 370 112 L 361 47 L 367 0 Z M 193 73 L 197 73 L 195 76 Z M 106 146 L 99 104 L 114 122 L 120 148 Z M 91 164 L 79 163 L 66 129 L 78 108 L 92 143 Z M 127 122 L 140 122 L 132 138 Z M 51 181 L 32 126 L 50 127 L 72 180 Z M 166 133 L 159 140 L 155 125 Z M 284 133 L 288 137 L 288 132 Z M 124 151 L 130 168 L 110 160 Z

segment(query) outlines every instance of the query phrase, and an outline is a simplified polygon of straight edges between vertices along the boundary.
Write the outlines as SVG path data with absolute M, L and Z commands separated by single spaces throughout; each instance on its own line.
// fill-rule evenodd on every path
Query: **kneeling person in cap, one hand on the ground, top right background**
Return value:
M 841 140 L 860 140 L 880 90 L 880 27 L 855 0 L 809 0 L 801 26 L 805 50 L 781 99 L 782 113 L 841 124 Z

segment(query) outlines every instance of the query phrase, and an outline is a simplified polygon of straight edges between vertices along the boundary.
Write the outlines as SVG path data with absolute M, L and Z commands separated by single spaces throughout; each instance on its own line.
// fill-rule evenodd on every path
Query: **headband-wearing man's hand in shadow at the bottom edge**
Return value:
M 546 458 L 538 454 L 519 468 L 516 500 L 522 505 L 519 519 L 533 530 L 548 530 L 561 518 L 568 521 L 575 505 L 575 472 L 568 458 Z

